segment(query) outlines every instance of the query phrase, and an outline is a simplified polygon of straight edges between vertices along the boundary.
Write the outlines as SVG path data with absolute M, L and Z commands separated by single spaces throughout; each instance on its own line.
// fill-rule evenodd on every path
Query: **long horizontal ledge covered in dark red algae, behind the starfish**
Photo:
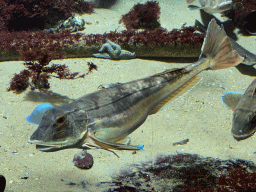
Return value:
M 137 57 L 198 57 L 205 34 L 195 32 L 194 27 L 167 31 L 155 29 L 110 32 L 84 35 L 46 32 L 0 31 L 0 61 L 20 60 L 20 50 L 33 46 L 54 44 L 57 51 L 66 52 L 67 58 L 91 57 L 97 53 L 106 39 L 118 44 L 122 49 L 135 52 Z

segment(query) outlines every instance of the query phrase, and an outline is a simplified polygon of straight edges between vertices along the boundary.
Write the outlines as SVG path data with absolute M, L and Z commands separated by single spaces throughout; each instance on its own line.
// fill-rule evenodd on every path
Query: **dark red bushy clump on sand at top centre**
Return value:
M 129 13 L 122 16 L 127 30 L 131 29 L 155 29 L 160 27 L 159 20 L 160 7 L 156 1 L 148 1 L 145 4 L 136 4 Z

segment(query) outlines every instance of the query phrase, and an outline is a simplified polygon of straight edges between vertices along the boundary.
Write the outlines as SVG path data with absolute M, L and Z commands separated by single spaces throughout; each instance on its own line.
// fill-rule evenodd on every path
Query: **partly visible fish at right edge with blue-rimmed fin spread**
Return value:
M 247 139 L 256 131 L 256 79 L 244 93 L 228 92 L 223 103 L 234 111 L 231 133 L 236 140 Z

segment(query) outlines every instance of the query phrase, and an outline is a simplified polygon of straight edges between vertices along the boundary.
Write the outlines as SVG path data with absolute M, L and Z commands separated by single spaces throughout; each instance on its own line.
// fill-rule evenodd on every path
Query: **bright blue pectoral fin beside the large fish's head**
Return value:
M 39 125 L 44 113 L 50 109 L 52 109 L 53 106 L 47 103 L 43 103 L 41 105 L 38 105 L 33 112 L 26 117 L 26 121 L 32 124 Z

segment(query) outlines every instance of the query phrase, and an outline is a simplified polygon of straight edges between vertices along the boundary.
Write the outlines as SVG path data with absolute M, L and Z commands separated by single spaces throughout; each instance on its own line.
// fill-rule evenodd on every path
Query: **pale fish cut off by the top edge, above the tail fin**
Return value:
M 195 0 L 187 0 L 187 3 L 190 4 Z M 203 9 L 205 12 L 214 14 L 222 13 L 232 8 L 232 0 L 199 0 L 201 7 L 196 5 L 188 5 L 190 10 Z

